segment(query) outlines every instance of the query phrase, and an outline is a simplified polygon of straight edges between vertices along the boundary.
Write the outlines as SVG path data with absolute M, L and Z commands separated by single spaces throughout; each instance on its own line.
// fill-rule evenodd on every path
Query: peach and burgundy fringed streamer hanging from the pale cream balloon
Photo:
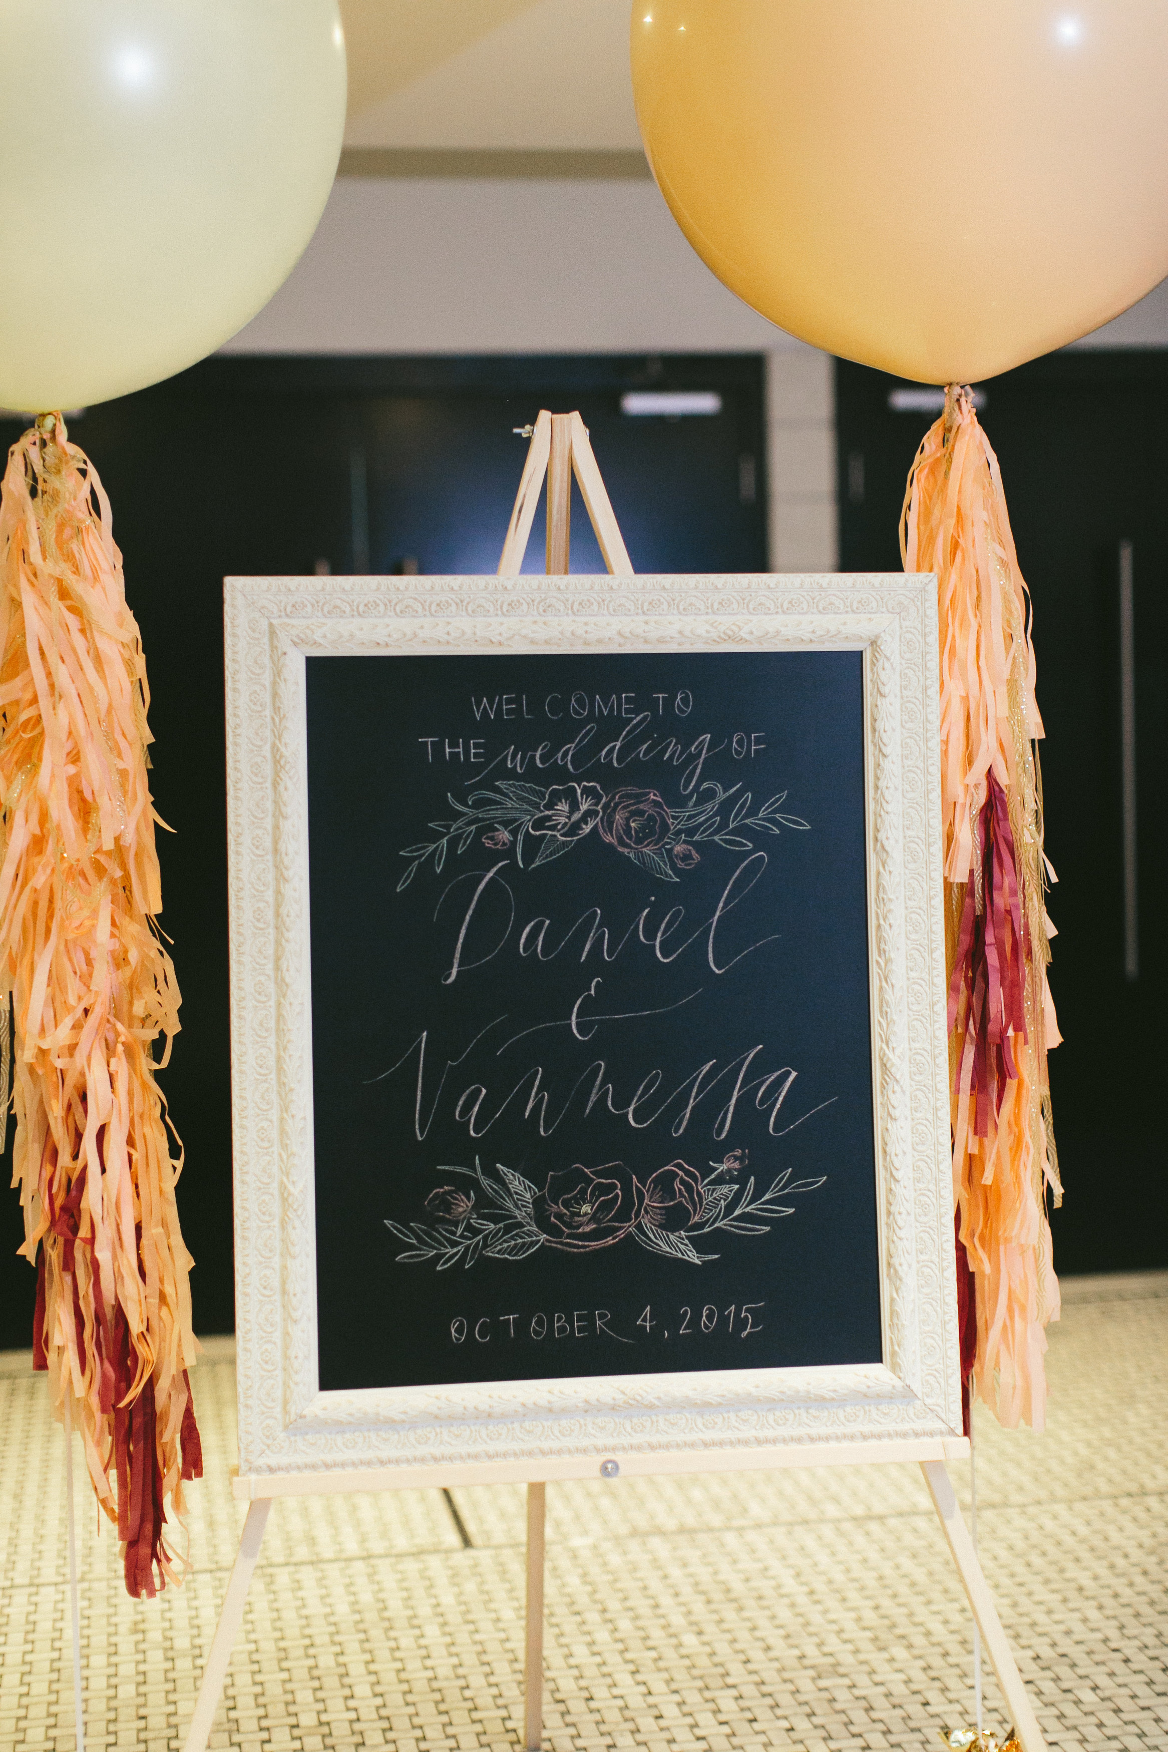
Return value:
M 179 1028 L 154 918 L 149 690 L 96 470 L 42 417 L 0 491 L 0 1004 L 14 1014 L 25 1246 L 37 1265 L 33 1367 L 68 1400 L 126 1587 L 186 1559 L 165 1500 L 201 1477 L 182 1246 L 152 1042 Z M 114 1473 L 116 1484 L 110 1484 Z

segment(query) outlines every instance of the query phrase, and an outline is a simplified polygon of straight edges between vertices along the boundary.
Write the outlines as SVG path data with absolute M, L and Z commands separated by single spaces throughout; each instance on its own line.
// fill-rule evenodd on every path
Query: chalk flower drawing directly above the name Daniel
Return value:
M 706 780 L 697 797 L 676 808 L 660 792 L 636 785 L 604 792 L 601 785 L 573 781 L 543 790 L 520 780 L 499 780 L 492 790 L 478 790 L 466 802 L 447 797 L 454 820 L 431 822 L 438 839 L 405 848 L 401 857 L 410 862 L 398 892 L 413 881 L 424 864 L 433 860 L 438 874 L 448 851 L 461 857 L 475 839 L 497 851 L 515 844 L 518 867 L 538 869 L 564 857 L 594 830 L 658 881 L 678 881 L 678 871 L 700 864 L 700 846 L 753 851 L 758 834 L 806 829 L 807 822 L 797 815 L 781 813 L 785 799 L 781 790 L 751 813 L 748 790 L 741 785 L 727 788 L 714 780 Z M 531 841 L 539 843 L 534 857 Z

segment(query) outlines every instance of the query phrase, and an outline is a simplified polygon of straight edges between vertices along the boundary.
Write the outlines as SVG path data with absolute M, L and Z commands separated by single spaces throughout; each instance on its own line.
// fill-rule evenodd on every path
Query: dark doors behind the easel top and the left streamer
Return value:
M 629 419 L 625 389 L 713 389 L 721 413 Z M 637 571 L 765 569 L 762 361 L 210 359 L 70 422 L 114 506 L 152 689 L 163 929 L 182 1034 L 161 1083 L 196 1332 L 231 1332 L 222 578 L 229 573 L 494 571 L 541 406 L 580 408 Z M 12 443 L 19 424 L 0 422 Z M 602 571 L 576 499 L 573 569 Z M 527 571 L 543 571 L 543 515 Z M 4 1158 L 11 1177 L 11 1151 Z M 35 1279 L 0 1197 L 0 1349 L 25 1347 Z

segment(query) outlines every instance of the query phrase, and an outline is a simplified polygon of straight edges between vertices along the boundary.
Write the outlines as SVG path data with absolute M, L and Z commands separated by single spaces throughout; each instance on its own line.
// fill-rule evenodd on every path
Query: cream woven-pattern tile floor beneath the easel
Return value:
M 1068 1282 L 1049 1365 L 1045 1437 L 977 1421 L 982 1561 L 1049 1745 L 1164 1752 L 1168 1274 Z M 196 1395 L 182 1591 L 128 1601 L 81 1498 L 91 1752 L 182 1745 L 242 1519 L 226 1340 Z M 212 1745 L 517 1748 L 522 1601 L 517 1487 L 277 1503 Z M 72 1747 L 63 1444 L 26 1356 L 0 1358 L 0 1752 Z M 548 1487 L 552 1752 L 935 1748 L 970 1715 L 916 1468 Z M 991 1677 L 986 1724 L 1007 1726 Z

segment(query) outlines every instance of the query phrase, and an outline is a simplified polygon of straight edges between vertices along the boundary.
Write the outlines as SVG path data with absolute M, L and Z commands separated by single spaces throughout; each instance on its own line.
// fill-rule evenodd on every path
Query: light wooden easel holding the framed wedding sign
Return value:
M 511 512 L 499 576 L 515 576 L 524 564 L 531 526 L 536 515 L 539 489 L 546 475 L 548 480 L 548 545 L 546 571 L 553 576 L 566 576 L 569 569 L 569 534 L 571 534 L 571 480 L 573 473 L 580 484 L 595 538 L 604 555 L 609 575 L 632 576 L 629 554 L 622 540 L 613 506 L 609 505 L 601 471 L 592 456 L 588 433 L 580 413 L 548 413 L 545 408 L 534 426 L 524 427 L 524 436 L 531 436 L 531 449 L 524 464 L 524 475 Z M 982 1575 L 977 1551 L 958 1507 L 956 1494 L 944 1458 L 939 1456 L 947 1447 L 965 1449 L 963 1442 L 939 1444 L 928 1442 L 888 1442 L 881 1444 L 881 1452 L 846 1456 L 839 1451 L 779 1452 L 760 1454 L 760 1466 L 770 1465 L 830 1465 L 844 1459 L 881 1459 L 907 1461 L 916 1459 L 925 1473 L 937 1517 L 940 1519 L 953 1563 L 961 1577 L 961 1586 L 968 1598 L 974 1622 L 993 1663 L 1002 1694 L 1014 1720 L 1014 1731 L 1023 1752 L 1047 1752 L 1038 1722 L 1030 1706 L 1023 1680 L 1010 1650 L 1009 1638 L 1002 1629 L 993 1594 Z M 662 1454 L 657 1470 L 662 1473 L 683 1473 L 700 1470 L 688 1466 L 685 1456 Z M 545 1463 L 546 1465 L 546 1463 Z M 611 1472 L 608 1470 L 611 1468 Z M 527 1484 L 527 1626 L 525 1626 L 525 1661 L 524 1661 L 524 1747 L 527 1752 L 539 1752 L 543 1745 L 543 1582 L 545 1582 L 545 1526 L 546 1526 L 546 1482 L 525 1477 L 524 1466 L 503 1468 L 511 1482 Z M 613 1461 L 601 1466 L 602 1477 L 616 1473 Z M 580 1475 L 578 1472 L 566 1475 Z M 228 1580 L 228 1593 L 219 1615 L 219 1624 L 207 1656 L 207 1666 L 194 1699 L 194 1715 L 184 1743 L 184 1752 L 207 1752 L 215 1708 L 222 1694 L 231 1661 L 235 1640 L 243 1624 L 243 1608 L 263 1542 L 271 1503 L 277 1496 L 326 1496 L 352 1491 L 373 1489 L 417 1489 L 420 1484 L 476 1482 L 473 1479 L 443 1473 L 441 1468 L 427 1468 L 427 1475 L 419 1475 L 412 1468 L 410 1477 L 389 1477 L 378 1473 L 308 1473 L 303 1477 L 254 1477 L 235 1479 L 235 1494 L 247 1498 L 247 1517 L 240 1533 L 240 1549 Z M 499 1479 L 503 1482 L 503 1479 Z

